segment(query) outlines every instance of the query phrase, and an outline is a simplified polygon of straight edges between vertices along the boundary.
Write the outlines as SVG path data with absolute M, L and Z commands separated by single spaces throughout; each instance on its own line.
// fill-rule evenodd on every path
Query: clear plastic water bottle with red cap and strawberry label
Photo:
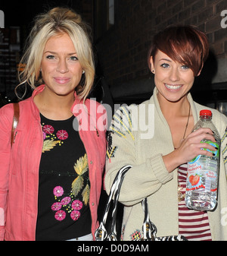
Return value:
M 185 192 L 185 204 L 194 210 L 213 210 L 216 207 L 218 176 L 219 176 L 219 148 L 220 136 L 213 125 L 212 112 L 204 109 L 200 112 L 200 120 L 194 126 L 193 131 L 198 128 L 210 128 L 216 139 L 213 141 L 203 140 L 201 143 L 211 144 L 216 151 L 210 151 L 213 156 L 196 156 L 188 162 L 188 175 Z M 206 150 L 206 149 L 204 149 Z

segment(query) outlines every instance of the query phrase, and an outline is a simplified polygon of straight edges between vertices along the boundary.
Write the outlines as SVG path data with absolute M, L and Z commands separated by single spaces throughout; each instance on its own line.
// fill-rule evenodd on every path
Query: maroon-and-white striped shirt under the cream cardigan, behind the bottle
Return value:
M 178 180 L 180 192 L 185 194 L 187 165 L 179 166 Z M 188 209 L 185 198 L 179 201 L 179 234 L 191 241 L 211 241 L 207 212 Z

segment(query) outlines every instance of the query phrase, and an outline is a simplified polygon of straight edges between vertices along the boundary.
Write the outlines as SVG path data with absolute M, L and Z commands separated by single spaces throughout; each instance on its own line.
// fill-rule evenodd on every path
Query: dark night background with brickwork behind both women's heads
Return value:
M 14 100 L 16 68 L 35 15 L 55 6 L 68 6 L 79 12 L 92 27 L 96 59 L 95 89 L 92 96 L 97 97 L 98 101 L 113 105 L 147 100 L 154 89 L 153 77 L 147 65 L 148 46 L 152 36 L 171 24 L 190 24 L 207 33 L 210 42 L 210 57 L 191 93 L 198 103 L 226 113 L 227 28 L 223 29 L 220 25 L 223 18 L 221 11 L 227 9 L 225 0 L 113 2 L 114 23 L 110 24 L 108 0 L 1 0 L 0 10 L 5 12 L 5 28 L 0 30 L 2 96 L 6 95 Z M 15 43 L 18 33 L 19 45 Z M 5 49 L 8 49 L 8 53 Z M 8 75 L 10 79 L 6 78 Z

